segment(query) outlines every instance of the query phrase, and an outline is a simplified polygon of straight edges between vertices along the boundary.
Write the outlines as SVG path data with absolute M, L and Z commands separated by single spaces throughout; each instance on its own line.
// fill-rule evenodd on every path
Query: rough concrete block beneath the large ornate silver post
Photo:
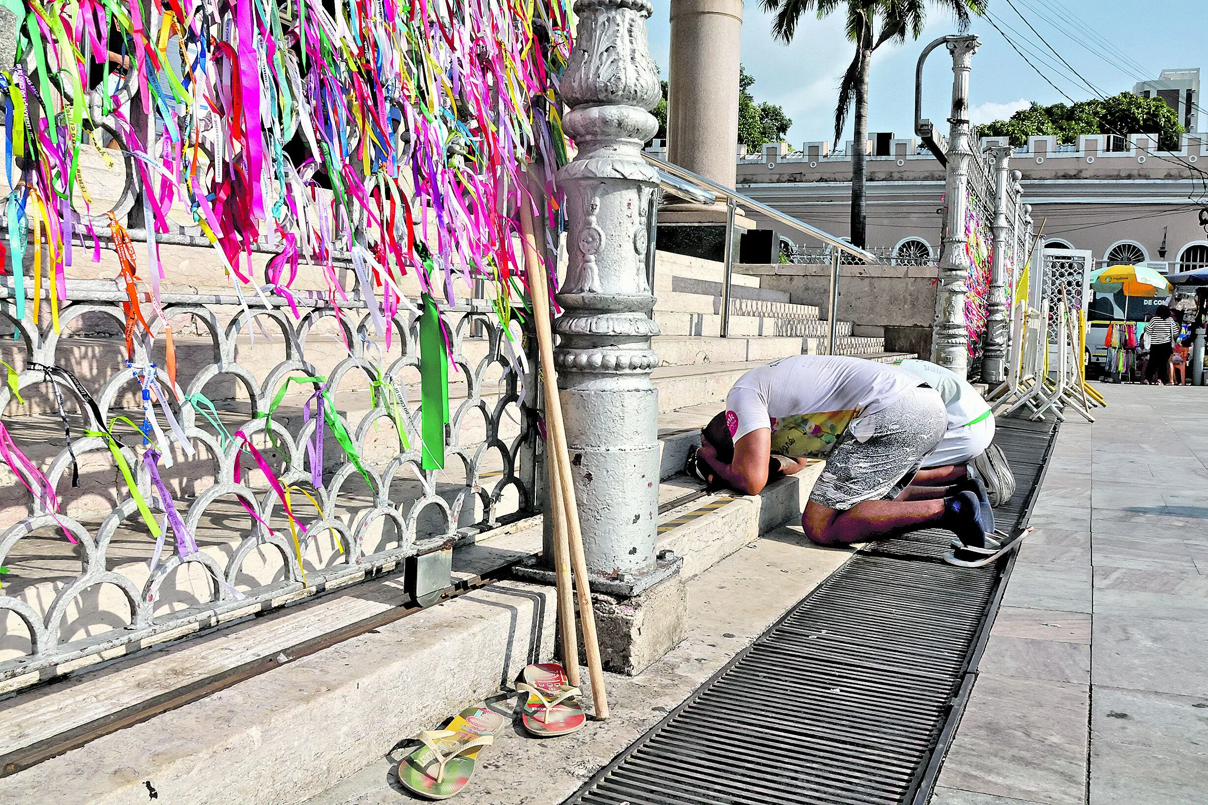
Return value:
M 687 636 L 687 587 L 679 572 L 632 599 L 592 600 L 606 671 L 637 676 Z

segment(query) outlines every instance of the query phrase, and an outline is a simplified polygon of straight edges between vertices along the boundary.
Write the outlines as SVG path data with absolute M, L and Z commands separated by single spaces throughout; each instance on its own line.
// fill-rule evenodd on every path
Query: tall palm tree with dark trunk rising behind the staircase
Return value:
M 962 33 L 969 29 L 970 12 L 981 16 L 989 0 L 930 0 L 952 12 Z M 847 37 L 855 42 L 855 57 L 843 74 L 835 107 L 835 145 L 843 134 L 848 111 L 855 105 L 852 139 L 852 243 L 861 249 L 867 234 L 865 157 L 869 140 L 869 68 L 872 52 L 885 42 L 905 42 L 906 34 L 918 39 L 927 19 L 928 0 L 761 0 L 765 11 L 776 13 L 772 34 L 789 43 L 807 11 L 819 19 L 840 7 L 847 8 Z M 877 33 L 879 29 L 879 34 Z

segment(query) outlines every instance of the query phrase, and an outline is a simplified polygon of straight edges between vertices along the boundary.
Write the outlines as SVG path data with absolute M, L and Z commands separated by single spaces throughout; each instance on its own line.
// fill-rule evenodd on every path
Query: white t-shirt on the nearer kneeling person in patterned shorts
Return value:
M 734 442 L 772 431 L 772 453 L 823 456 L 853 419 L 883 410 L 919 379 L 894 366 L 859 357 L 798 355 L 751 369 L 726 397 Z

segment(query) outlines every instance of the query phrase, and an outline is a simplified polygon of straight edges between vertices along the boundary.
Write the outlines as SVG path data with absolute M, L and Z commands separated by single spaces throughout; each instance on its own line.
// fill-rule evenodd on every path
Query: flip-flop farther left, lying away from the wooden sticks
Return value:
M 399 762 L 399 782 L 426 799 L 448 799 L 470 782 L 478 751 L 490 746 L 506 719 L 486 707 L 466 707 L 445 729 L 424 730 L 423 743 Z

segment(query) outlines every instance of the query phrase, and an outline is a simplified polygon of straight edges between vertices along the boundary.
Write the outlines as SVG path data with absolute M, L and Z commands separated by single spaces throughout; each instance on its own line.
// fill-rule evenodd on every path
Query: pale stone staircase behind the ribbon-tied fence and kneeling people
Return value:
M 721 408 L 733 381 L 768 361 L 825 351 L 827 325 L 819 320 L 817 308 L 792 304 L 788 294 L 761 288 L 759 278 L 738 274 L 732 286 L 731 337 L 720 338 L 720 280 L 719 263 L 658 255 L 655 288 L 658 302 L 654 315 L 662 334 L 654 346 L 661 366 L 652 374 L 660 392 L 658 544 L 660 549 L 673 550 L 684 558 L 686 579 L 727 561 L 744 547 L 755 547 L 761 535 L 796 523 L 821 468 L 821 462 L 817 462 L 755 496 L 686 497 L 701 491 L 699 484 L 683 473 L 687 451 L 699 441 L 699 428 Z M 852 336 L 848 322 L 840 322 L 838 332 L 842 354 L 879 361 L 905 357 L 885 354 L 879 338 Z M 97 374 L 108 372 L 111 350 L 105 339 L 80 338 L 79 342 L 66 345 L 68 352 Z M 467 343 L 466 349 L 471 346 Z M 181 339 L 179 348 L 186 358 L 181 372 L 194 371 L 194 363 L 207 355 L 204 344 L 192 349 L 188 337 Z M 335 343 L 316 345 L 316 350 L 310 356 L 316 361 L 332 360 L 338 352 Z M 478 357 L 466 355 L 470 362 Z M 248 360 L 251 362 L 250 356 Z M 268 367 L 257 364 L 256 368 Z M 367 389 L 360 387 L 364 384 L 355 383 L 353 374 L 348 378 L 347 386 L 341 384 L 338 404 L 356 420 L 370 408 L 371 401 Z M 408 386 L 417 380 L 418 377 L 403 378 Z M 488 385 L 494 381 L 494 375 L 484 379 Z M 461 386 L 451 390 L 454 408 L 464 398 Z M 407 391 L 410 397 L 412 389 Z M 301 403 L 301 398 L 288 396 L 278 416 L 300 416 Z M 21 413 L 28 418 L 25 427 L 45 432 L 45 450 L 33 449 L 35 461 L 46 460 L 62 448 L 58 443 L 62 433 L 56 431 L 57 419 L 47 401 L 30 399 Z M 504 431 L 505 438 L 513 438 L 518 432 L 512 425 Z M 460 444 L 481 443 L 484 436 L 481 418 L 471 416 L 458 427 Z M 389 431 L 365 447 L 368 457 L 395 449 Z M 338 454 L 326 459 L 341 461 Z M 483 474 L 498 474 L 489 467 L 483 469 Z M 95 524 L 112 506 L 114 483 L 115 472 L 105 455 L 89 454 L 81 461 L 81 488 L 74 492 L 64 490 L 68 509 L 81 520 Z M 165 483 L 174 495 L 187 497 L 210 485 L 213 479 L 175 477 L 165 472 Z M 451 477 L 437 485 L 437 492 L 452 492 L 463 483 L 464 477 Z M 391 494 L 395 491 L 416 495 L 419 490 L 403 485 L 397 490 L 391 488 Z M 0 519 L 11 521 L 21 515 L 18 498 L 19 495 L 8 491 L 0 494 Z M 366 506 L 367 501 L 349 500 L 348 504 Z M 225 556 L 231 550 L 227 530 L 239 517 L 240 512 L 231 507 L 213 514 L 208 512 L 196 529 L 203 550 L 216 558 Z M 541 518 L 536 517 L 480 535 L 454 553 L 454 577 L 469 581 L 539 552 L 541 531 Z M 132 524 L 120 529 L 114 541 L 129 549 L 111 549 L 108 570 L 141 587 L 147 577 L 146 554 L 151 542 L 147 535 L 138 524 Z M 37 556 L 41 564 L 35 567 L 27 562 L 28 567 L 23 566 L 21 573 L 7 577 L 5 593 L 22 597 L 41 613 L 64 583 L 63 574 L 54 568 L 79 562 L 79 559 L 54 535 L 39 539 L 36 547 L 41 552 Z M 331 553 L 331 546 L 324 549 Z M 329 560 L 326 554 L 310 556 L 308 552 L 307 566 L 320 566 Z M 244 576 L 237 581 L 255 585 L 266 583 L 277 572 L 279 568 L 273 564 L 245 565 Z M 115 624 L 121 628 L 128 620 L 124 599 L 110 590 L 111 587 L 98 585 L 103 591 L 88 600 L 87 608 L 66 613 L 65 635 L 98 635 L 101 638 L 105 630 Z M 170 589 L 168 584 L 161 588 L 161 606 L 178 608 L 192 600 L 203 600 L 208 587 L 204 576 L 180 577 Z M 141 723 L 132 721 L 132 727 L 117 733 L 101 731 L 97 740 L 10 775 L 0 781 L 0 799 L 98 805 L 134 801 L 147 795 L 144 781 L 153 781 L 159 798 L 168 797 L 168 801 L 208 803 L 234 797 L 239 801 L 302 803 L 381 758 L 399 737 L 413 735 L 439 722 L 443 714 L 489 695 L 501 678 L 515 677 L 525 658 L 545 660 L 552 654 L 554 607 L 551 590 L 522 582 L 498 583 L 367 634 L 356 631 L 358 623 L 385 618 L 405 605 L 401 587 L 399 577 L 388 574 L 349 587 L 343 593 L 333 591 L 265 613 L 265 618 L 232 629 L 210 631 L 193 641 L 167 643 L 124 659 L 123 652 L 115 651 L 115 664 L 105 675 L 76 675 L 68 684 L 23 693 L 17 693 L 21 681 L 0 687 L 0 694 L 16 693 L 10 701 L 12 723 L 0 730 L 2 754 L 2 751 L 28 747 L 50 736 L 87 729 L 88 724 L 99 723 L 95 719 L 114 718 L 114 712 L 137 711 L 150 700 L 185 696 L 194 686 L 215 686 L 211 695 L 190 700 Z M 0 623 L 0 657 L 11 659 L 13 654 L 29 652 L 31 647 L 22 635 L 22 626 L 11 617 L 5 620 Z M 325 643 L 327 648 L 292 659 L 295 649 L 290 647 L 301 646 L 303 638 L 326 641 L 325 635 L 342 629 L 360 636 L 333 640 Z M 499 658 L 505 658 L 503 666 Z M 284 665 L 227 689 L 215 682 L 236 666 L 265 661 Z M 408 683 L 400 686 L 400 679 Z M 284 695 L 285 690 L 292 693 Z M 81 702 L 91 704 L 83 706 Z M 336 708 L 347 725 L 358 728 L 331 730 L 327 719 L 316 714 Z M 43 717 L 47 712 L 56 714 Z M 318 748 L 300 762 L 297 753 L 302 746 Z M 139 748 L 132 754 L 130 747 Z M 118 762 L 118 758 L 124 759 Z M 205 763 L 199 766 L 197 758 L 205 758 Z M 110 769 L 123 764 L 129 766 L 129 774 L 89 774 L 89 782 L 82 788 L 68 782 L 80 780 L 71 770 Z M 205 774 L 196 774 L 198 768 L 204 768 Z M 279 774 L 281 768 L 295 772 L 283 776 Z M 237 791 L 230 788 L 232 780 L 240 781 Z

